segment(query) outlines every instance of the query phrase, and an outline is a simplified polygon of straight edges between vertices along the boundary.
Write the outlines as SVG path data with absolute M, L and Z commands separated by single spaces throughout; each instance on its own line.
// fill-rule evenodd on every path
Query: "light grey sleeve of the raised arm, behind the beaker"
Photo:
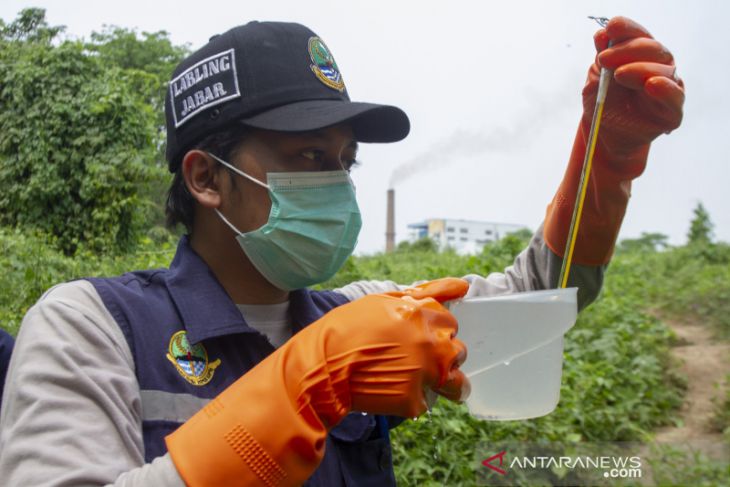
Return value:
M 496 296 L 525 291 L 537 291 L 557 287 L 562 258 L 555 255 L 543 240 L 542 226 L 537 229 L 525 250 L 515 258 L 514 263 L 504 272 L 494 272 L 488 276 L 469 274 L 463 276 L 469 282 L 467 297 Z M 572 265 L 570 287 L 578 287 L 578 307 L 585 308 L 597 296 L 603 284 L 605 266 Z M 421 281 L 423 282 L 423 281 Z M 410 285 L 396 284 L 393 281 L 357 281 L 336 292 L 344 294 L 350 301 L 367 294 L 402 290 Z

